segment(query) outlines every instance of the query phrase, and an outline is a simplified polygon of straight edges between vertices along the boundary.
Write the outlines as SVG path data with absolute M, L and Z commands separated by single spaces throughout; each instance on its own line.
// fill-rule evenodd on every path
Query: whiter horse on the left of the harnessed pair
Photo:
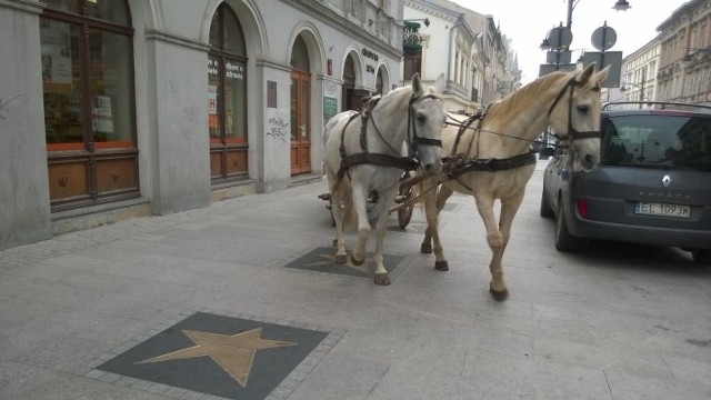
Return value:
M 336 261 L 347 262 L 344 228 L 358 218 L 358 242 L 351 262 L 364 262 L 365 243 L 370 236 L 368 198 L 377 193 L 372 209 L 378 216 L 373 253 L 374 282 L 390 284 L 383 266 L 383 241 L 390 206 L 399 189 L 403 170 L 419 169 L 424 174 L 442 169 L 442 129 L 444 106 L 437 88 L 424 88 L 419 74 L 410 87 L 398 88 L 372 98 L 362 112 L 344 111 L 326 126 L 323 173 L 331 194 L 331 211 L 336 221 Z M 439 88 L 439 89 L 438 89 Z

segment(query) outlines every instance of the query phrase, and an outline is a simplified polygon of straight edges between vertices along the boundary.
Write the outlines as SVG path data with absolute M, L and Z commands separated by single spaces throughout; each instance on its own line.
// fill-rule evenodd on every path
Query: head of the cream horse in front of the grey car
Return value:
M 549 109 L 550 126 L 572 151 L 573 171 L 590 171 L 600 162 L 600 88 L 610 67 L 594 64 L 564 77 L 565 83 Z

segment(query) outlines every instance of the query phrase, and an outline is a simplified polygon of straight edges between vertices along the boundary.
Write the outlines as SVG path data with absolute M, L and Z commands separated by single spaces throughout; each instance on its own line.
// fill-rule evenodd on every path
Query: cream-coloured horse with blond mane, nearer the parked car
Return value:
M 429 178 L 419 186 L 428 224 L 421 251 L 434 250 L 437 270 L 449 270 L 438 231 L 439 212 L 453 192 L 473 196 L 492 251 L 489 289 L 494 299 L 507 298 L 501 259 L 535 169 L 530 144 L 550 126 L 573 151 L 574 171 L 594 168 L 600 161 L 600 87 L 608 72 L 605 68 L 594 73 L 593 64 L 568 73 L 552 72 L 492 103 L 480 116 L 469 120 L 448 116 L 442 132 L 442 151 L 449 154 L 444 172 L 439 181 Z M 478 124 L 470 127 L 474 120 Z M 498 222 L 497 199 L 501 202 Z

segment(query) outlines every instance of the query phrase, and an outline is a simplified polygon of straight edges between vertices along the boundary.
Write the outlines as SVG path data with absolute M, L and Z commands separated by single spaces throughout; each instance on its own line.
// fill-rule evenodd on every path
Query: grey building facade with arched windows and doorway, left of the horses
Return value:
M 0 0 L 0 250 L 320 177 L 402 0 Z M 379 23 L 373 23 L 379 21 Z

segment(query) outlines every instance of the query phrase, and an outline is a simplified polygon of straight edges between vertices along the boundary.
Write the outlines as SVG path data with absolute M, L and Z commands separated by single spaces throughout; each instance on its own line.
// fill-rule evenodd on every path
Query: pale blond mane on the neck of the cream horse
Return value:
M 530 109 L 531 103 L 534 102 L 535 99 L 543 96 L 550 89 L 551 84 L 554 84 L 564 77 L 568 77 L 568 73 L 560 71 L 551 72 L 510 93 L 505 98 L 492 102 L 487 110 L 487 119 L 500 120 Z

